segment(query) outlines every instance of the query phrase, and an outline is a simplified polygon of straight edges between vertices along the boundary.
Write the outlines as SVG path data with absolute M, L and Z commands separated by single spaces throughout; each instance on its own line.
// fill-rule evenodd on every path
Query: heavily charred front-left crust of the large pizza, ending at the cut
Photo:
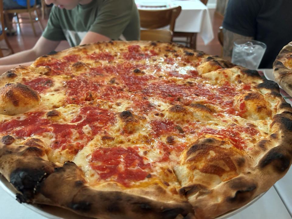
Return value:
M 39 141 L 34 140 L 35 143 Z M 193 218 L 192 206 L 187 201 L 166 202 L 123 191 L 94 189 L 75 163 L 55 165 L 47 160 L 45 152 L 36 144 L 18 146 L 2 143 L 0 146 L 1 172 L 20 192 L 16 196 L 19 202 L 50 204 L 95 218 L 134 219 L 140 215 L 148 218 Z

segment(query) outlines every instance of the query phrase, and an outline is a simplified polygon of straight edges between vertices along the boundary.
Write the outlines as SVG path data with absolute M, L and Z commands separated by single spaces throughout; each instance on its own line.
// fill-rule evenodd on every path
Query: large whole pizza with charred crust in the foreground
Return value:
M 0 82 L 0 172 L 21 203 L 215 218 L 291 165 L 292 108 L 278 85 L 179 44 L 73 47 Z

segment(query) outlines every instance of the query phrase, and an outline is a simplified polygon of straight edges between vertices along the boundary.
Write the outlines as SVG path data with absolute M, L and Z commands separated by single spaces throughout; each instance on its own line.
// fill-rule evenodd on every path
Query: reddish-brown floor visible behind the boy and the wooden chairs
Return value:
M 203 51 L 210 55 L 221 55 L 221 45 L 218 42 L 217 39 L 217 31 L 219 26 L 222 24 L 222 17 L 217 15 L 215 12 L 215 9 L 210 9 L 210 15 L 213 23 L 213 31 L 215 38 L 208 44 L 204 45 L 203 40 L 200 38 L 200 36 L 197 37 L 197 50 Z M 46 26 L 47 19 L 41 20 L 43 26 Z M 36 43 L 37 39 L 41 36 L 42 32 L 40 30 L 40 27 L 37 23 L 35 23 L 36 33 L 38 36 L 34 36 L 33 30 L 31 28 L 30 24 L 21 24 L 20 30 L 16 27 L 17 35 L 16 36 L 8 36 L 8 40 L 14 49 L 14 52 L 19 52 L 22 50 L 30 49 L 33 47 L 33 45 Z M 1 42 L 2 45 L 3 42 Z M 57 48 L 57 51 L 63 50 L 68 48 L 69 45 L 66 41 L 61 42 L 60 45 Z

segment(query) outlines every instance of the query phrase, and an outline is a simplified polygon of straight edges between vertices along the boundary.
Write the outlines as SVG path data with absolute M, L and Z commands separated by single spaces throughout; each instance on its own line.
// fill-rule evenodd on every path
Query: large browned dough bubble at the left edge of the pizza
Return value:
M 40 102 L 38 93 L 24 84 L 6 84 L 0 88 L 0 114 L 25 113 Z

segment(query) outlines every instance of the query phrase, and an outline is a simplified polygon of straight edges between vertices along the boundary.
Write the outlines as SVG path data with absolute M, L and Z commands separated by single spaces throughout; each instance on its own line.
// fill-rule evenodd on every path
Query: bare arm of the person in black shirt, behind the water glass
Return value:
M 231 61 L 233 43 L 235 40 L 253 40 L 252 36 L 243 36 L 223 29 L 223 58 Z

